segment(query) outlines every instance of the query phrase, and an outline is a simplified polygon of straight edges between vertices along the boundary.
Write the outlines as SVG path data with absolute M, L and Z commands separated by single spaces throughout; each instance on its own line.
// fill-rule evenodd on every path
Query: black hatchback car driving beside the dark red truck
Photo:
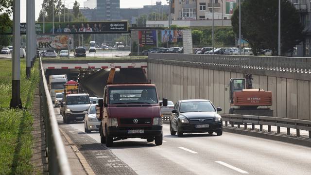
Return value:
M 217 114 L 221 108 L 209 100 L 181 100 L 176 103 L 171 113 L 171 135 L 181 137 L 184 133 L 217 133 L 223 134 L 222 117 Z

